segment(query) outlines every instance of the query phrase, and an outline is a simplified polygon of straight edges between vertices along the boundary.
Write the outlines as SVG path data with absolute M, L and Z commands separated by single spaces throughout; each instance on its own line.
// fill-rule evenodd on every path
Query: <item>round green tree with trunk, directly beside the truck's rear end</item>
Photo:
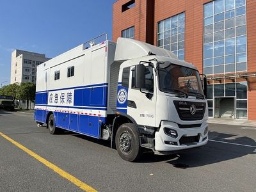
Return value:
M 19 89 L 17 90 L 17 99 L 27 101 L 27 109 L 29 108 L 29 100 L 34 102 L 36 93 L 36 86 L 31 82 L 20 83 Z

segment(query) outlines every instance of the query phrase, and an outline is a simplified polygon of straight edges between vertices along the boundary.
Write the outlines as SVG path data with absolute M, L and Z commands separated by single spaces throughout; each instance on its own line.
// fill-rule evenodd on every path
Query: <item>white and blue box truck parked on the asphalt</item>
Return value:
M 207 143 L 207 79 L 194 65 L 145 42 L 96 39 L 38 65 L 38 124 L 109 140 L 127 161 Z

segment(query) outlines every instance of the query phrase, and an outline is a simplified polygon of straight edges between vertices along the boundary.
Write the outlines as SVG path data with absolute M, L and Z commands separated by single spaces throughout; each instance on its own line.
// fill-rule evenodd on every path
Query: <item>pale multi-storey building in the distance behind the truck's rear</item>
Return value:
M 48 60 L 45 54 L 16 49 L 12 52 L 10 83 L 36 83 L 36 66 Z

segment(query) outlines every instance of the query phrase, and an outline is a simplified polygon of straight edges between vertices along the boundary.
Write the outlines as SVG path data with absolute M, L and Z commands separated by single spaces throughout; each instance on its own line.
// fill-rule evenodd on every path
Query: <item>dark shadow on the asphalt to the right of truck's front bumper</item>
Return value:
M 256 154 L 256 142 L 252 138 L 246 136 L 237 137 L 237 135 L 234 134 L 223 134 L 210 131 L 209 141 L 204 147 L 168 156 L 154 156 L 153 154 L 147 154 L 146 156 L 143 156 L 140 163 L 165 161 L 176 168 L 186 169 L 228 161 L 248 154 Z

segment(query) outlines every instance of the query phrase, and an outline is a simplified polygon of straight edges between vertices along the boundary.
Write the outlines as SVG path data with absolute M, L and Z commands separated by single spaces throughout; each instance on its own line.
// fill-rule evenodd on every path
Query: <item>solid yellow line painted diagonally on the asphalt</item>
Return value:
M 54 172 L 56 172 L 59 175 L 61 175 L 61 177 L 64 177 L 65 179 L 69 180 L 70 182 L 72 182 L 73 184 L 75 184 L 79 188 L 83 189 L 84 191 L 96 191 L 91 186 L 88 186 L 87 184 L 85 184 L 81 180 L 77 179 L 76 177 L 70 175 L 69 173 L 65 172 L 64 170 L 61 170 L 61 168 L 58 168 L 58 166 L 52 164 L 51 162 L 47 161 L 43 157 L 38 156 L 38 154 L 35 154 L 33 151 L 31 151 L 28 148 L 24 147 L 23 145 L 21 145 L 17 141 L 14 141 L 12 138 L 9 138 L 8 136 L 6 136 L 5 134 L 3 134 L 1 132 L 0 132 L 0 135 L 3 138 L 5 138 L 6 140 L 8 140 L 11 143 L 13 143 L 14 145 L 16 145 L 17 147 L 19 147 L 21 150 L 23 150 L 24 152 L 26 152 L 30 156 L 34 157 L 36 160 L 38 160 L 41 163 L 45 164 L 45 166 L 49 167 L 51 170 L 54 170 Z

